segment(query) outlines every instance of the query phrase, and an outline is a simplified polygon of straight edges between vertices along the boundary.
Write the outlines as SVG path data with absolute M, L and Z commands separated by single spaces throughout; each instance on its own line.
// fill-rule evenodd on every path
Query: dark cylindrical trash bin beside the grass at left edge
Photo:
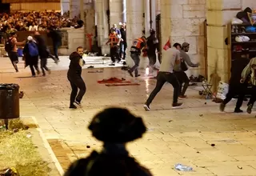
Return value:
M 0 84 L 0 119 L 19 118 L 18 84 Z

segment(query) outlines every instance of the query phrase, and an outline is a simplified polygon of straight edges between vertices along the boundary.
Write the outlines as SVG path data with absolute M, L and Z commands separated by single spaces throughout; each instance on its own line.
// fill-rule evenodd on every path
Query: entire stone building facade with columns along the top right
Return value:
M 80 9 L 82 3 L 86 2 L 86 0 L 70 1 L 70 9 L 76 1 L 80 3 Z M 127 52 L 129 52 L 134 38 L 141 37 L 143 31 L 148 35 L 150 15 L 152 27 L 156 29 L 154 17 L 161 14 L 162 46 L 169 37 L 172 44 L 189 42 L 189 54 L 192 61 L 201 63 L 199 68 L 190 68 L 188 74 L 202 74 L 209 77 L 216 70 L 225 82 L 228 81 L 230 72 L 228 46 L 224 42 L 229 35 L 226 25 L 239 10 L 247 6 L 252 9 L 256 8 L 255 0 L 151 0 L 151 6 L 149 6 L 150 0 L 94 0 L 90 2 L 94 3 L 98 45 L 102 47 L 103 53 L 104 50 L 108 50 L 105 43 L 112 24 L 126 22 Z M 205 20 L 208 26 L 205 26 Z

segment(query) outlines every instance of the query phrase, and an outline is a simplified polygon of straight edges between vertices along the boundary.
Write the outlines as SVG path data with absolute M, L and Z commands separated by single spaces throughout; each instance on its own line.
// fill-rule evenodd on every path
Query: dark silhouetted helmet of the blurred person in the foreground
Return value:
M 88 128 L 99 141 L 110 143 L 134 141 L 142 138 L 142 134 L 146 132 L 142 118 L 117 107 L 107 108 L 96 114 Z

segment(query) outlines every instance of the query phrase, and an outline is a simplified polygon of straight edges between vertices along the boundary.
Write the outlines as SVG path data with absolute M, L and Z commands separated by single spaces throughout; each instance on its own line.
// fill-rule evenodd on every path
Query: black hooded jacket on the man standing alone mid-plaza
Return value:
M 82 66 L 80 66 L 79 62 L 82 59 L 82 56 L 77 52 L 73 52 L 70 54 L 70 68 L 67 72 L 69 77 L 81 77 L 82 74 Z M 83 61 L 85 64 L 85 61 Z

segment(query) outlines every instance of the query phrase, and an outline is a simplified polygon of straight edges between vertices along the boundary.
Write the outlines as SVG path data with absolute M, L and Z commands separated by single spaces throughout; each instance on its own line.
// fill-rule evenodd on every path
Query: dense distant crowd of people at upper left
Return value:
M 9 31 L 42 31 L 49 27 L 63 28 L 78 26 L 79 18 L 69 18 L 69 14 L 61 14 L 55 11 L 41 12 L 15 12 L 0 14 L 0 31 L 9 33 Z

